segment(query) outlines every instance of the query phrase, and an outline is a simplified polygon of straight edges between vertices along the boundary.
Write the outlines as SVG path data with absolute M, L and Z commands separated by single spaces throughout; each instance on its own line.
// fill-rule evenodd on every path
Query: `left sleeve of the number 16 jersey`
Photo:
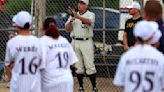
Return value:
M 6 55 L 5 55 L 5 66 L 10 65 L 10 63 L 12 61 L 13 60 L 12 60 L 12 56 L 11 56 L 11 53 L 10 53 L 9 44 L 7 43 L 7 46 L 6 46 Z

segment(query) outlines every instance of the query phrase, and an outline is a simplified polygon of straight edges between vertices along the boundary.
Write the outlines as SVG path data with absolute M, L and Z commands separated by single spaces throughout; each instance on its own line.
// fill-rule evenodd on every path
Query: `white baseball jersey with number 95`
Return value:
M 113 83 L 124 92 L 161 92 L 164 55 L 149 45 L 136 45 L 121 57 Z

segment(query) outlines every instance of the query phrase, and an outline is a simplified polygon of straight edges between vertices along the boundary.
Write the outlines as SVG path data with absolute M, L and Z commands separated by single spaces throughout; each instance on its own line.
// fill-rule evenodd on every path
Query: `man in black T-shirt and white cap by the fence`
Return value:
M 134 1 L 132 5 L 127 7 L 129 14 L 132 15 L 132 18 L 128 19 L 125 23 L 125 30 L 123 34 L 123 44 L 124 50 L 127 51 L 131 46 L 136 42 L 133 35 L 133 28 L 138 21 L 142 20 L 140 10 L 141 6 L 138 2 Z

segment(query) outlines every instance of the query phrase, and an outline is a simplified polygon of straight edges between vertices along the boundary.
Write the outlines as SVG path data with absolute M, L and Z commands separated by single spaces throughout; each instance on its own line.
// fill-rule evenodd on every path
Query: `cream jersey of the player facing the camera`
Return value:
M 79 14 L 79 13 L 78 13 Z M 76 38 L 91 38 L 93 37 L 93 28 L 94 28 L 94 22 L 95 22 L 95 14 L 93 12 L 90 12 L 87 10 L 83 15 L 81 15 L 84 18 L 88 18 L 91 20 L 92 24 L 83 24 L 81 20 L 75 19 L 72 22 L 72 32 L 71 32 L 71 37 L 76 37 Z M 66 22 L 66 25 L 68 22 L 71 20 L 71 16 L 69 17 L 68 21 Z

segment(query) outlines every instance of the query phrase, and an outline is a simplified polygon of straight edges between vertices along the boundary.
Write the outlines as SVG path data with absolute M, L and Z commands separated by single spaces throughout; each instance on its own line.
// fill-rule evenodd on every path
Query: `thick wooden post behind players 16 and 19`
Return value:
M 46 13 L 46 0 L 35 0 L 35 35 L 41 36 L 42 22 Z

